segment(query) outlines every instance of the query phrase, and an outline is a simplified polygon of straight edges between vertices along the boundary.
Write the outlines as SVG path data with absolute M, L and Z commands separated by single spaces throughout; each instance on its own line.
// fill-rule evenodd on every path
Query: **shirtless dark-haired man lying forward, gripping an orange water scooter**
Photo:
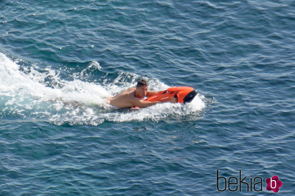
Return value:
M 144 97 L 150 97 L 156 95 L 160 91 L 150 91 L 148 90 L 148 83 L 146 80 L 141 79 L 138 81 L 136 88 L 129 88 L 120 92 L 119 94 L 107 98 L 109 104 L 116 106 L 119 109 L 131 108 L 133 106 L 137 107 L 148 107 L 159 103 L 177 103 L 177 98 L 172 98 L 168 101 L 143 101 Z

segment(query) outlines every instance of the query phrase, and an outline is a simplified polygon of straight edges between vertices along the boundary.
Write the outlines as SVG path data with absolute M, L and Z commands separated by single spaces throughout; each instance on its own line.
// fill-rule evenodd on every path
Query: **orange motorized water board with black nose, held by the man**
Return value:
M 177 98 L 178 103 L 189 103 L 197 95 L 192 87 L 188 86 L 179 86 L 179 87 L 170 87 L 167 90 L 158 92 L 156 95 L 144 99 L 144 101 L 167 101 L 173 97 Z M 135 106 L 136 107 L 136 106 Z

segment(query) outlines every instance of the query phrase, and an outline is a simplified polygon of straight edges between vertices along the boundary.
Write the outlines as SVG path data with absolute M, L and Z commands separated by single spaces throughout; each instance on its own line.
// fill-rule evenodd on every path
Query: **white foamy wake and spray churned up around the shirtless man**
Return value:
M 206 98 L 198 95 L 189 104 L 164 103 L 136 111 L 115 110 L 104 103 L 104 98 L 135 86 L 141 77 L 124 71 L 108 74 L 101 71 L 98 62 L 89 62 L 85 67 L 79 72 L 67 67 L 42 68 L 0 53 L 0 118 L 98 125 L 104 121 L 157 121 L 171 115 L 197 117 L 206 105 Z M 169 87 L 157 79 L 145 79 L 152 90 Z

